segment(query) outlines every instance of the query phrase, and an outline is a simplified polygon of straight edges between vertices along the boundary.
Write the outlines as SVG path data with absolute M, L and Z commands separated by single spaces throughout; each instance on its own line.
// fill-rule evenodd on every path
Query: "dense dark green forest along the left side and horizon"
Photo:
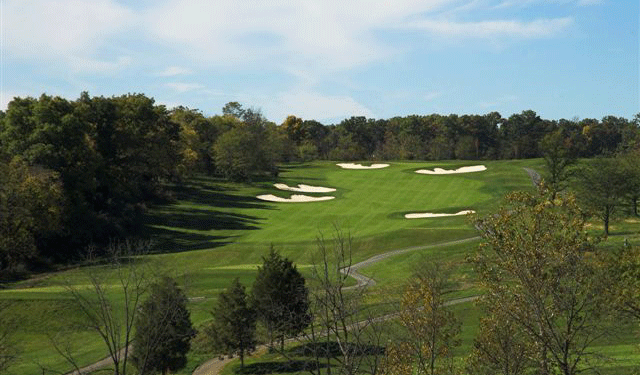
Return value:
M 289 116 L 275 124 L 237 102 L 207 117 L 143 94 L 14 98 L 0 111 L 0 280 L 139 235 L 146 207 L 171 199 L 166 184 L 194 173 L 250 182 L 277 176 L 279 163 L 318 159 L 553 162 L 613 156 L 639 143 L 640 114 L 547 120 L 525 110 L 331 125 Z M 551 182 L 561 183 L 557 177 Z M 636 207 L 637 194 L 630 199 Z

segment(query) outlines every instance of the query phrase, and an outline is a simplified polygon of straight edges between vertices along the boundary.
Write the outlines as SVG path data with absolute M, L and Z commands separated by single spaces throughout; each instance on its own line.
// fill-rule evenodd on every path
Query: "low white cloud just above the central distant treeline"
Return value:
M 263 103 L 265 114 L 276 122 L 288 115 L 323 121 L 351 116 L 374 117 L 373 112 L 350 96 L 323 95 L 313 91 L 292 91 Z

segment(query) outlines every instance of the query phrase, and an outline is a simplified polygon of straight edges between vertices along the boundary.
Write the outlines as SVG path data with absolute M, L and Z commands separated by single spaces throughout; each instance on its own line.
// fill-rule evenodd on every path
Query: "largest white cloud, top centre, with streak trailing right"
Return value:
M 406 31 L 407 25 L 454 37 L 526 39 L 556 35 L 572 23 L 569 17 L 442 19 L 451 11 L 477 14 L 482 7 L 490 5 L 479 0 L 168 0 L 148 9 L 142 23 L 155 40 L 207 67 L 273 69 L 306 84 L 402 53 L 402 46 L 380 33 Z

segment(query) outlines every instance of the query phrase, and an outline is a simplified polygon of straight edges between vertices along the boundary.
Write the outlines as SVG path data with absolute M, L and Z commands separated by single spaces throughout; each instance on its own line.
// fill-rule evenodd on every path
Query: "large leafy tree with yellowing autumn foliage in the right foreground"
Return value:
M 593 367 L 594 343 L 607 332 L 607 283 L 575 199 L 512 193 L 476 226 L 485 240 L 473 259 L 484 301 L 533 345 L 538 373 Z M 477 342 L 500 344 L 491 330 L 481 334 Z

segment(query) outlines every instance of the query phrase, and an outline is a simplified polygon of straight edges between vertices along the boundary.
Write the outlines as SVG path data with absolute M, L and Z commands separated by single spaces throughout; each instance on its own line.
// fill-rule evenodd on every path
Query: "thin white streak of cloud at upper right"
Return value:
M 457 22 L 449 20 L 421 20 L 407 28 L 428 33 L 464 38 L 546 38 L 560 33 L 573 23 L 571 17 L 539 19 L 531 22 L 497 20 L 480 22 Z

